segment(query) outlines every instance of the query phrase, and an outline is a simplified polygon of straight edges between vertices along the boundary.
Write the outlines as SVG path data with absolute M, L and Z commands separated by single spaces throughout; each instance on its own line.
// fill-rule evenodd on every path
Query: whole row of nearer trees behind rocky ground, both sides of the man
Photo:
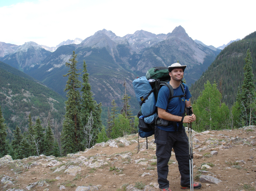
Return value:
M 76 69 L 76 56 L 73 51 L 72 58 L 66 63 L 69 71 L 64 75 L 68 77 L 64 91 L 67 92 L 68 99 L 65 102 L 66 113 L 60 144 L 57 139 L 54 139 L 50 114 L 46 128 L 42 127 L 39 117 L 33 124 L 29 115 L 27 131 L 22 134 L 20 128 L 16 126 L 13 131 L 14 139 L 10 142 L 6 139 L 7 126 L 0 107 L 0 157 L 6 154 L 10 154 L 13 159 L 40 154 L 65 156 L 68 153 L 91 148 L 95 143 L 137 132 L 138 119 L 130 111 L 130 96 L 126 92 L 126 80 L 123 84 L 123 108 L 118 111 L 115 100 L 112 100 L 112 108 L 108 108 L 107 112 L 107 125 L 103 126 L 102 104 L 96 103 L 93 98 L 85 61 L 83 61 L 82 82 L 79 80 L 81 73 Z M 195 131 L 238 128 L 256 124 L 256 91 L 250 49 L 247 50 L 244 60 L 243 84 L 237 91 L 236 102 L 230 110 L 223 102 L 217 83 L 210 84 L 207 81 L 204 84 L 204 90 L 192 105 L 196 115 L 196 122 L 193 125 Z

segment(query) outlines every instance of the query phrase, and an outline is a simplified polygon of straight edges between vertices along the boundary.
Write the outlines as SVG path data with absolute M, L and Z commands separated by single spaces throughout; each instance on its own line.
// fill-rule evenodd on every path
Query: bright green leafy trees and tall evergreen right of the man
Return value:
M 223 102 L 217 83 L 214 82 L 211 85 L 207 80 L 204 84 L 204 90 L 200 92 L 198 99 L 192 105 L 196 115 L 194 126 L 196 131 L 238 128 L 256 124 L 256 91 L 250 49 L 247 49 L 244 60 L 243 84 L 237 91 L 236 101 L 233 102 L 230 110 Z M 222 70 L 222 72 L 226 71 Z

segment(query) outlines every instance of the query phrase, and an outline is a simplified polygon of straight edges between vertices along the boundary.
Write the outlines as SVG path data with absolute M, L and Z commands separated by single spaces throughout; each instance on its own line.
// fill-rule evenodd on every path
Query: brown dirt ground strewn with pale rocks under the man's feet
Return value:
M 256 189 L 256 127 L 193 132 L 193 172 L 206 191 Z M 100 143 L 66 157 L 31 156 L 0 159 L 3 191 L 158 191 L 154 137 L 130 135 Z M 168 180 L 180 190 L 180 174 L 173 153 Z M 189 190 L 189 189 L 187 189 Z

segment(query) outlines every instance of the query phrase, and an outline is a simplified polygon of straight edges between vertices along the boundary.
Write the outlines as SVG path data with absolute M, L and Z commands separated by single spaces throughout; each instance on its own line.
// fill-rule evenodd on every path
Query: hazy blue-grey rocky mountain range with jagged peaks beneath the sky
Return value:
M 90 84 L 98 103 L 102 102 L 103 106 L 110 107 L 115 99 L 117 105 L 122 106 L 123 83 L 126 80 L 127 90 L 132 97 L 131 106 L 134 109 L 138 104 L 132 81 L 145 75 L 149 68 L 169 66 L 179 60 L 187 65 L 184 75 L 190 86 L 199 79 L 221 51 L 194 41 L 182 26 L 177 26 L 168 34 L 156 35 L 140 30 L 124 37 L 118 37 L 112 31 L 103 29 L 80 41 L 81 39 L 73 42 L 68 40 L 63 42 L 62 46 L 58 45 L 55 51 L 54 48 L 46 48 L 34 42 L 27 42 L 22 46 L 4 43 L 5 53 L 1 53 L 4 56 L 0 60 L 65 97 L 66 92 L 63 89 L 67 78 L 63 75 L 68 71 L 65 63 L 69 62 L 72 52 L 75 51 L 77 68 L 82 68 L 83 60 L 87 64 Z M 7 54 L 8 51 L 13 52 Z

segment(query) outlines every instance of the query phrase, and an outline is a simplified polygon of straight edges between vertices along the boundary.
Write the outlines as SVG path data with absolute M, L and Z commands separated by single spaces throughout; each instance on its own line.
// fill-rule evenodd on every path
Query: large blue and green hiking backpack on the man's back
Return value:
M 139 118 L 138 125 L 138 138 L 146 138 L 148 149 L 148 138 L 154 134 L 154 128 L 159 123 L 166 123 L 167 120 L 160 119 L 157 115 L 157 108 L 155 104 L 157 102 L 157 96 L 162 86 L 168 87 L 170 90 L 169 102 L 173 97 L 184 97 L 185 96 L 185 85 L 181 82 L 181 88 L 183 95 L 173 96 L 173 87 L 168 83 L 170 81 L 170 75 L 167 67 L 154 67 L 147 71 L 146 76 L 138 77 L 133 80 L 132 85 L 135 91 L 136 99 L 138 100 L 141 109 L 137 114 Z M 139 151 L 139 145 L 138 145 Z

